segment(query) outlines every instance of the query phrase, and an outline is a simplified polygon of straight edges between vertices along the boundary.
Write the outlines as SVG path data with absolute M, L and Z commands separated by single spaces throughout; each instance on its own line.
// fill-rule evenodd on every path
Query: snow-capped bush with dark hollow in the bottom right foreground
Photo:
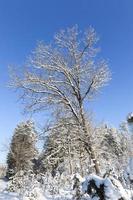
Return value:
M 82 192 L 98 200 L 132 200 L 133 193 L 123 188 L 120 181 L 114 177 L 101 178 L 89 175 L 82 183 Z

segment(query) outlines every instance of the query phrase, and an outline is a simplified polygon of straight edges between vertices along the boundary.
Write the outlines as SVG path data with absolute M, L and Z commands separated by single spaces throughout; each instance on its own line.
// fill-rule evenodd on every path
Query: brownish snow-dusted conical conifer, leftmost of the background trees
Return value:
M 20 170 L 32 169 L 37 155 L 36 141 L 37 134 L 32 121 L 22 122 L 16 127 L 7 156 L 7 177 Z

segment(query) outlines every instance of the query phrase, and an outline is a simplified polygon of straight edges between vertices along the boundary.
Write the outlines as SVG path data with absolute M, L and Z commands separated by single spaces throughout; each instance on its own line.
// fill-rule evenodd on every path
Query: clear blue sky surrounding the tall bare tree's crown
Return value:
M 23 64 L 38 40 L 75 24 L 96 29 L 112 71 L 110 85 L 90 104 L 96 119 L 118 126 L 133 110 L 132 0 L 0 0 L 0 150 L 25 118 L 17 94 L 6 87 L 8 65 Z

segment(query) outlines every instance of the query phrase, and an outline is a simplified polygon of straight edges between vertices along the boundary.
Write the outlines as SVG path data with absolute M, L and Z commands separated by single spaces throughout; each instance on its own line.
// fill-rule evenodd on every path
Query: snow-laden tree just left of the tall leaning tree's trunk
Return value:
M 57 168 L 61 167 L 61 171 L 65 169 L 70 175 L 76 173 L 75 167 L 81 156 L 80 149 L 85 151 L 79 132 L 74 120 L 67 117 L 58 119 L 53 126 L 46 128 L 45 133 L 48 136 L 40 156 L 43 172 L 51 170 L 54 174 Z

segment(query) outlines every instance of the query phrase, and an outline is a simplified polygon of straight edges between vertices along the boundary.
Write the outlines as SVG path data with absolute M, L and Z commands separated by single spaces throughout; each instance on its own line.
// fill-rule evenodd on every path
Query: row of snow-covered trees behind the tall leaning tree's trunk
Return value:
M 126 169 L 132 147 L 126 125 L 122 123 L 120 129 L 115 129 L 106 124 L 94 127 L 88 122 L 88 130 L 99 161 L 99 176 L 113 176 L 124 187 L 130 188 L 132 172 L 128 174 Z M 32 174 L 31 182 L 37 180 L 45 185 L 45 190 L 56 194 L 60 188 L 72 185 L 72 175 L 78 173 L 84 177 L 94 174 L 94 163 L 86 150 L 85 139 L 86 135 L 80 135 L 74 120 L 58 117 L 55 124 L 42 130 L 44 146 L 39 152 L 40 132 L 37 133 L 35 124 L 30 120 L 20 123 L 14 131 L 7 156 L 9 190 L 23 188 L 24 179 L 29 180 Z

